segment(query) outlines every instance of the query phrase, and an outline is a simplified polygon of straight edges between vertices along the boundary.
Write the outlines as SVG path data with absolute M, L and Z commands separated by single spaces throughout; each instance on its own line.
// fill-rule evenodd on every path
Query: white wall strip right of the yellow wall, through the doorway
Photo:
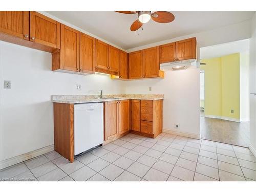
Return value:
M 249 52 L 240 53 L 240 121 L 250 120 Z

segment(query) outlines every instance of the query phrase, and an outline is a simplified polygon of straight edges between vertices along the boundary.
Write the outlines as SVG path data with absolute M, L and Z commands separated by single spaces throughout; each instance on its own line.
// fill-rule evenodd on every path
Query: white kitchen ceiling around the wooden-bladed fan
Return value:
M 170 11 L 175 15 L 172 23 L 160 24 L 150 20 L 143 25 L 143 31 L 140 29 L 132 32 L 130 26 L 137 19 L 137 14 L 122 14 L 114 11 L 47 12 L 125 50 L 240 23 L 250 19 L 254 13 L 253 11 Z

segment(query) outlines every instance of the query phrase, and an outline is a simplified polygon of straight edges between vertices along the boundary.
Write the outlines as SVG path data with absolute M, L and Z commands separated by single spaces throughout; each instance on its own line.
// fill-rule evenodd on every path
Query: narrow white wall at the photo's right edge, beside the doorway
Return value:
M 251 20 L 250 38 L 250 93 L 256 93 L 256 13 Z M 250 94 L 250 145 L 256 157 L 256 95 Z

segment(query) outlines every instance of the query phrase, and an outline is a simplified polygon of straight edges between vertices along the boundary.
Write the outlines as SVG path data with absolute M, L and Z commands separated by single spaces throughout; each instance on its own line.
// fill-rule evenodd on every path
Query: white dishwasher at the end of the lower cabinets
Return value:
M 103 103 L 74 105 L 74 155 L 103 143 Z

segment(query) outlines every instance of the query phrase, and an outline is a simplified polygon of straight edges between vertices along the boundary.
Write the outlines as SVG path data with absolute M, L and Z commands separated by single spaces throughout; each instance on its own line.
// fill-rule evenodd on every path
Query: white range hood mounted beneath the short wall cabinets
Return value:
M 177 66 L 185 66 L 186 68 L 196 68 L 197 60 L 196 59 L 187 59 L 187 60 L 182 60 L 182 61 L 161 63 L 160 70 L 163 70 L 163 71 L 173 70 L 173 67 L 177 67 Z

